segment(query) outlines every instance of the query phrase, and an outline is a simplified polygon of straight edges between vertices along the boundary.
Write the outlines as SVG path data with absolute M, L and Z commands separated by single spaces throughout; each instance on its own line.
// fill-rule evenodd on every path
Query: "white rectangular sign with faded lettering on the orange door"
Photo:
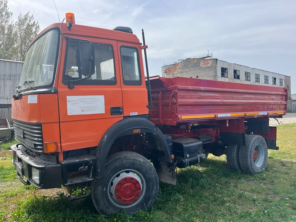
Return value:
M 104 96 L 67 96 L 67 115 L 105 113 Z

